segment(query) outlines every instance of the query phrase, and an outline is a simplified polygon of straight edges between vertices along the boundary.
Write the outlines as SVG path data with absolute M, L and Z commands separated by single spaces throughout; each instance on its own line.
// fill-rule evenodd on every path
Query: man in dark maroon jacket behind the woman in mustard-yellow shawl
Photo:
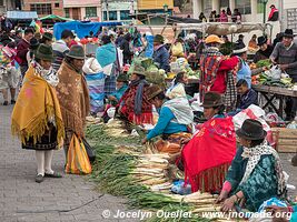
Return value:
M 28 70 L 27 53 L 30 47 L 30 40 L 33 38 L 34 31 L 32 29 L 26 29 L 23 39 L 17 46 L 18 62 L 21 68 L 21 74 L 24 77 Z

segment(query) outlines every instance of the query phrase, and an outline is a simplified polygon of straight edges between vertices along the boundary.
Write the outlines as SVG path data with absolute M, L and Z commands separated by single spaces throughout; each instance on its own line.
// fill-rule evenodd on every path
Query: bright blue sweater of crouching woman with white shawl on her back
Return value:
M 187 132 L 187 125 L 171 122 L 175 119 L 174 113 L 167 107 L 160 111 L 159 120 L 156 127 L 148 133 L 147 139 L 150 140 L 160 134 L 172 134 L 177 132 Z

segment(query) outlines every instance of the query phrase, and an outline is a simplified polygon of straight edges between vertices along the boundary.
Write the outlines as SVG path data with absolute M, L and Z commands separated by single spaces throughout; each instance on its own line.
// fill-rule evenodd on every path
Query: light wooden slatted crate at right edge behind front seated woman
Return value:
M 287 128 L 271 128 L 276 150 L 280 153 L 297 152 L 297 130 Z

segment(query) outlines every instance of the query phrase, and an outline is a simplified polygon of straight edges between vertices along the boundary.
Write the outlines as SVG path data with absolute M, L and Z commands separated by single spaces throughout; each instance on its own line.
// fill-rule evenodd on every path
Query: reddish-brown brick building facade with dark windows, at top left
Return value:
M 37 11 L 39 17 L 48 14 L 65 16 L 62 0 L 23 0 L 22 9 L 26 11 Z

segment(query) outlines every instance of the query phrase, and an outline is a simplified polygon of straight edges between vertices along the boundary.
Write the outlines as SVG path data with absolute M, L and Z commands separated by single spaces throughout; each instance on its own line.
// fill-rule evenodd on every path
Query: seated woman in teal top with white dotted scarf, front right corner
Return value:
M 224 201 L 222 211 L 232 210 L 236 203 L 249 211 L 258 211 L 264 201 L 286 192 L 280 160 L 277 151 L 265 141 L 267 133 L 260 122 L 246 120 L 236 134 L 240 147 L 218 202 Z

